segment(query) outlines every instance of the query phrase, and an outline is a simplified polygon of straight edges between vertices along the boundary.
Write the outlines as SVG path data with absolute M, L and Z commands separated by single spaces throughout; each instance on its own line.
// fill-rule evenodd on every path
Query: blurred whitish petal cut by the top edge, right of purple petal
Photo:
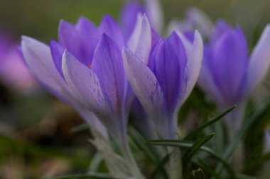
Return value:
M 163 30 L 163 11 L 158 0 L 146 0 L 146 14 L 151 26 L 161 33 Z

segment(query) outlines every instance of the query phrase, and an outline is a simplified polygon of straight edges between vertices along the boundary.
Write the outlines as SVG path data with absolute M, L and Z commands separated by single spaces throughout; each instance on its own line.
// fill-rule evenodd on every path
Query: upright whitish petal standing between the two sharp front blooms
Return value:
M 145 64 L 148 63 L 148 57 L 151 52 L 151 27 L 146 15 L 138 14 L 137 22 L 132 33 L 128 47 Z

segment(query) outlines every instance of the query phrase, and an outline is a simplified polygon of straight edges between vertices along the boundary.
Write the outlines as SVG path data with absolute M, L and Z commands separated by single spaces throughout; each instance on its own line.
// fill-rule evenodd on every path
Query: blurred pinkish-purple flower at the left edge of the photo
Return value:
M 16 43 L 6 33 L 0 34 L 0 80 L 16 91 L 28 92 L 36 86 L 36 81 L 28 72 Z

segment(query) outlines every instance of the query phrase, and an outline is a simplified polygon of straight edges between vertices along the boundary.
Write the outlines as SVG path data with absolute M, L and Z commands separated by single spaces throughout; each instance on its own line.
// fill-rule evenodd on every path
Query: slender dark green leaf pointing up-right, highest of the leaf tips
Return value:
M 190 132 L 190 134 L 188 134 L 184 140 L 188 140 L 191 137 L 195 136 L 196 134 L 199 134 L 203 129 L 205 129 L 206 127 L 212 125 L 213 123 L 217 122 L 218 120 L 222 119 L 222 117 L 224 117 L 225 115 L 227 115 L 229 112 L 231 112 L 232 110 L 234 110 L 234 108 L 236 107 L 236 105 L 232 106 L 232 108 L 229 108 L 228 110 L 226 110 L 225 112 L 222 112 L 222 114 L 218 115 L 217 117 L 215 117 L 214 119 L 205 122 L 205 124 L 201 125 L 200 127 L 196 128 L 193 130 L 193 132 Z

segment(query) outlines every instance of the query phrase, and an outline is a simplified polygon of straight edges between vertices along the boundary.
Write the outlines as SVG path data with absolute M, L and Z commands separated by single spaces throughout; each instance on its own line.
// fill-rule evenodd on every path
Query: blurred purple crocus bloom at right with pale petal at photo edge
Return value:
M 270 64 L 269 40 L 270 26 L 267 25 L 249 57 L 241 28 L 232 28 L 223 21 L 217 23 L 210 43 L 205 45 L 198 83 L 221 110 L 242 105 L 247 94 L 264 77 Z M 240 107 L 225 120 L 232 132 L 239 126 L 242 112 Z

